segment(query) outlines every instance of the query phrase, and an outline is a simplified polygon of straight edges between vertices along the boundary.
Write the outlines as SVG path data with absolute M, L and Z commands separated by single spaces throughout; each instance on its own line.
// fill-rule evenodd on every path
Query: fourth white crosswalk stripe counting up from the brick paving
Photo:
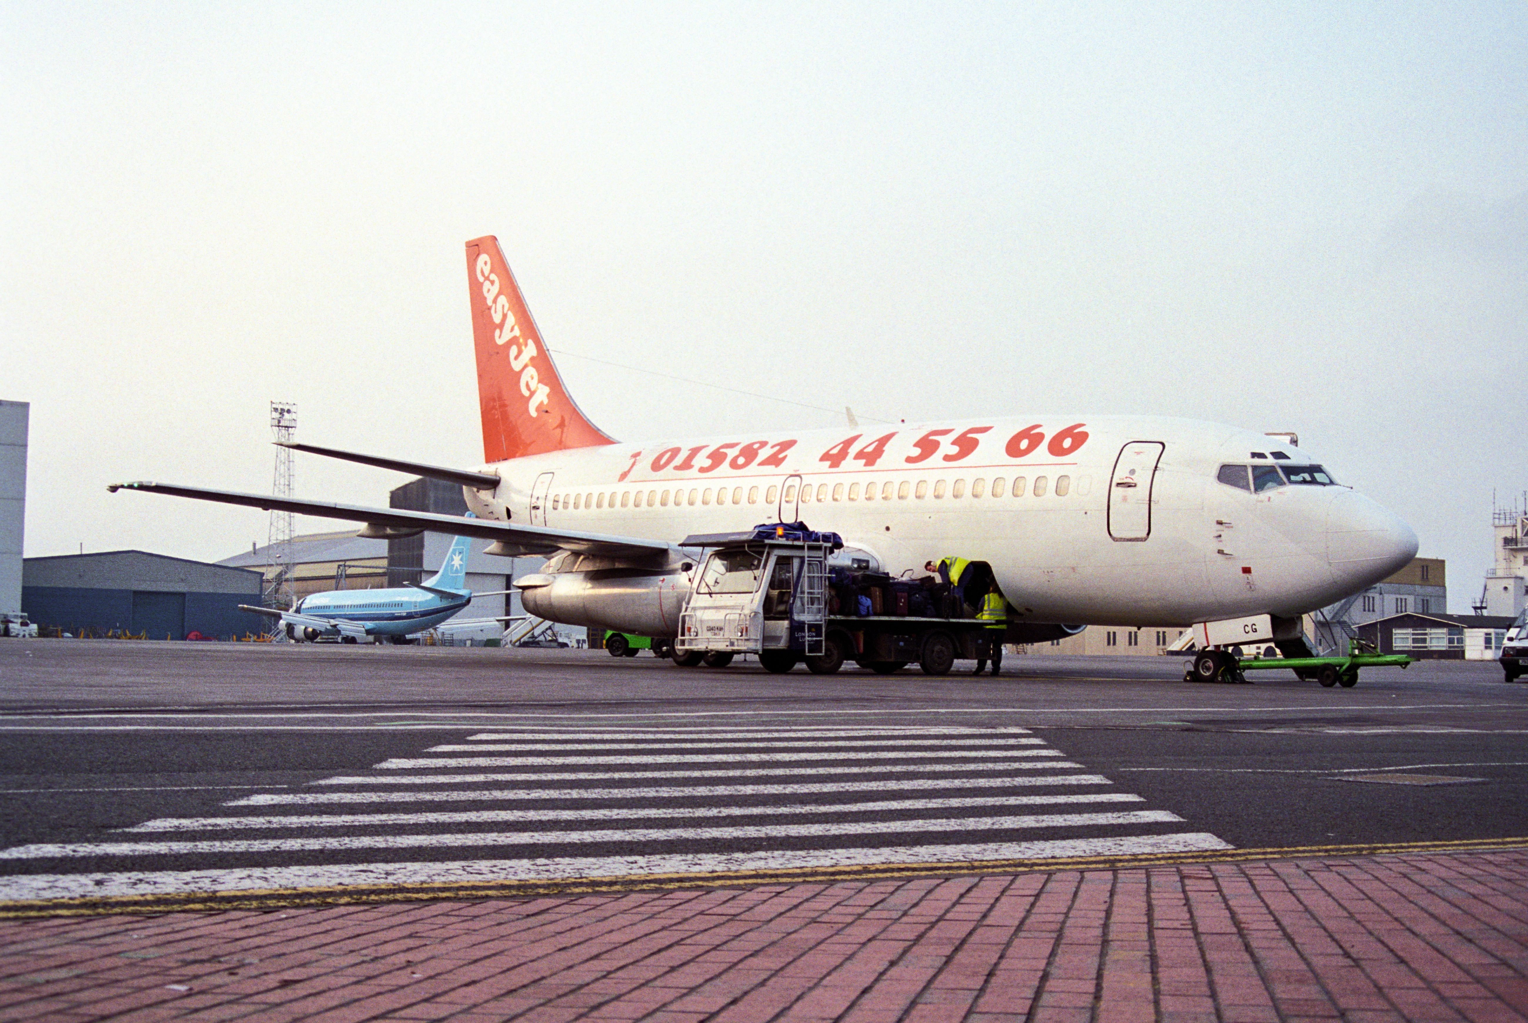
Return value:
M 396 779 L 393 779 L 396 780 Z M 440 779 L 429 779 L 440 780 Z M 888 792 L 952 788 L 1010 788 L 1018 785 L 1109 785 L 1102 774 L 1044 774 L 1028 777 L 876 779 L 874 782 L 793 782 L 787 785 L 675 785 L 663 788 L 503 788 L 487 791 L 414 789 L 402 792 L 269 792 L 235 799 L 223 806 L 316 806 L 322 803 L 492 803 L 535 799 L 704 799 L 712 795 L 798 795 L 805 792 Z

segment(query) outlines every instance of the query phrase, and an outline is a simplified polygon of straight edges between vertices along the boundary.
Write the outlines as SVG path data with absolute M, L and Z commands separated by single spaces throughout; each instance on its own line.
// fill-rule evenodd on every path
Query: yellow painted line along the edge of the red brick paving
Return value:
M 43 916 L 102 916 L 113 913 L 194 913 L 226 910 L 269 910 L 307 905 L 356 905 L 417 902 L 439 899 L 523 898 L 533 895 L 590 895 L 614 892 L 654 892 L 704 887 L 767 884 L 839 884 L 903 878 L 957 875 L 1054 873 L 1060 870 L 1129 870 L 1204 863 L 1250 863 L 1258 860 L 1311 860 L 1449 852 L 1502 852 L 1528 849 L 1528 837 L 1478 838 L 1452 841 L 1398 841 L 1334 846 L 1288 846 L 1271 849 L 1221 849 L 1207 852 L 1164 852 L 1126 857 L 1071 857 L 1057 860 L 983 860 L 935 864 L 874 864 L 854 867 L 804 867 L 799 870 L 738 870 L 712 873 L 660 873 L 637 876 L 579 878 L 573 881 L 480 881 L 468 884 L 419 884 L 406 889 L 364 886 L 325 886 L 309 889 L 270 889 L 244 892 L 203 892 L 196 895 L 136 895 L 110 899 L 21 899 L 0 901 L 0 919 Z

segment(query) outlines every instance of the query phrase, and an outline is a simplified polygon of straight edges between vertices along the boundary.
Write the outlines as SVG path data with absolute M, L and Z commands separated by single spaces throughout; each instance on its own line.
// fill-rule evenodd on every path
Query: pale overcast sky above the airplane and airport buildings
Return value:
M 882 418 L 1293 429 L 1453 611 L 1528 487 L 1520 3 L 8 0 L 0 47 L 29 556 L 264 542 L 105 484 L 267 490 L 270 399 L 478 463 L 484 234 L 622 440 L 843 420 L 590 357 Z

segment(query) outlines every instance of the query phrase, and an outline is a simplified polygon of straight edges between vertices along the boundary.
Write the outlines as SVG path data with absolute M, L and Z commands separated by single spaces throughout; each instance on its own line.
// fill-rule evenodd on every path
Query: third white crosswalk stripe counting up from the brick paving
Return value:
M 119 832 L 231 831 L 237 828 L 371 828 L 380 825 L 487 825 L 523 820 L 633 820 L 659 817 L 769 817 L 787 814 L 865 814 L 967 806 L 1050 806 L 1057 803 L 1140 803 L 1129 792 L 1062 792 L 1059 795 L 966 795 L 955 799 L 869 800 L 865 803 L 798 803 L 787 806 L 613 806 L 587 809 L 483 809 L 457 814 L 306 814 L 283 817 L 160 817 Z

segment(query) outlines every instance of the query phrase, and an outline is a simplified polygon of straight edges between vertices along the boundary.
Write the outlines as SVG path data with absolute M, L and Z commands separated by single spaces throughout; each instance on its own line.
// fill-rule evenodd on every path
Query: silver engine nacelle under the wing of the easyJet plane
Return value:
M 515 580 L 526 611 L 562 624 L 636 635 L 678 635 L 689 600 L 692 560 L 663 566 L 622 565 L 610 559 L 559 554 L 535 576 Z

